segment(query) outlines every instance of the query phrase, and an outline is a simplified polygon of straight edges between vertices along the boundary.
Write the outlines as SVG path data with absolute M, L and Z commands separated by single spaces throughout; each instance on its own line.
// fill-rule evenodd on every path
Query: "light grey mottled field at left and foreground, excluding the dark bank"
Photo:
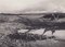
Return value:
M 65 40 L 56 40 L 54 38 L 30 42 L 11 39 L 8 35 L 15 33 L 16 27 L 26 27 L 22 23 L 15 23 L 14 20 L 17 19 L 20 17 L 15 15 L 0 15 L 0 47 L 65 47 Z

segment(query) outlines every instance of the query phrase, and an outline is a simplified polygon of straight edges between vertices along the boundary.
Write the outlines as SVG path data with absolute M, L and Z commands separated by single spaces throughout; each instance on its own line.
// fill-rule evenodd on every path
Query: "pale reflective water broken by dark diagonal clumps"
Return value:
M 28 30 L 20 30 L 18 33 L 25 33 Z M 40 30 L 31 30 L 29 33 L 41 35 L 43 32 L 44 32 L 44 28 L 40 28 Z M 48 31 L 48 32 L 44 33 L 44 35 L 52 36 L 52 32 Z M 62 30 L 61 31 L 55 31 L 55 33 L 53 35 L 56 38 L 65 39 L 65 31 L 62 31 Z

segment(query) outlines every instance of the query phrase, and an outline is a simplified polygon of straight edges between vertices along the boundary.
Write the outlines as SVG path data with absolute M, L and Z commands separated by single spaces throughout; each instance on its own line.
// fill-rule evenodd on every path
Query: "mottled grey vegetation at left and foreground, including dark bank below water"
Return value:
M 16 33 L 16 27 L 26 27 L 21 22 L 16 22 L 18 19 L 18 16 L 0 15 L 0 47 L 65 47 L 65 42 L 51 37 L 47 39 L 47 36 L 37 34 Z

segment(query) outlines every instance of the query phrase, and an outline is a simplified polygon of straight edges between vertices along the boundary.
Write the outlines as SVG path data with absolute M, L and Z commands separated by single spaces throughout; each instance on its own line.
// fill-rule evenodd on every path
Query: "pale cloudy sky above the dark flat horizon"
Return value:
M 62 11 L 64 0 L 0 0 L 0 12 Z

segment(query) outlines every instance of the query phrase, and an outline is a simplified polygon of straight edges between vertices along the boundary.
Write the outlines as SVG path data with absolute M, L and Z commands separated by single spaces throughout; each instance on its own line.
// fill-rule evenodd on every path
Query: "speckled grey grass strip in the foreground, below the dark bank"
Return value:
M 0 47 L 65 47 L 65 42 L 54 39 L 25 42 L 22 39 L 11 39 L 6 35 L 3 35 L 0 38 Z

